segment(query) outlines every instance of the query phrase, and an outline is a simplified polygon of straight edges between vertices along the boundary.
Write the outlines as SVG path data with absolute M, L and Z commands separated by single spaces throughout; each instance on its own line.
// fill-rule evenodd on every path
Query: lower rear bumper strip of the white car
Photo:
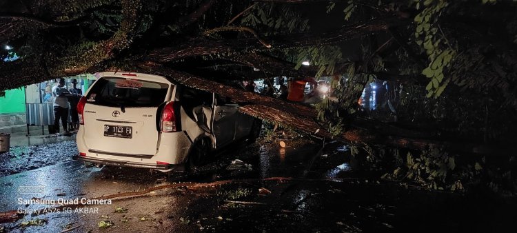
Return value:
M 183 165 L 183 164 L 138 163 L 138 162 L 132 162 L 132 161 L 96 159 L 96 158 L 92 158 L 92 157 L 88 157 L 88 156 L 74 156 L 74 160 L 90 162 L 90 163 L 99 163 L 99 164 L 103 164 L 103 165 L 117 166 L 117 167 L 151 168 L 154 170 L 161 170 L 164 172 L 168 172 L 168 171 L 183 172 L 183 171 L 185 171 L 185 165 Z

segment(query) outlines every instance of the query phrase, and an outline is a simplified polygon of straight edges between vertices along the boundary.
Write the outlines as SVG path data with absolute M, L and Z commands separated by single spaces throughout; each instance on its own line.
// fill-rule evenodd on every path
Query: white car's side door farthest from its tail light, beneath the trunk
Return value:
M 213 112 L 213 134 L 216 139 L 216 148 L 231 143 L 235 139 L 235 124 L 239 105 L 229 103 L 224 97 L 216 94 Z

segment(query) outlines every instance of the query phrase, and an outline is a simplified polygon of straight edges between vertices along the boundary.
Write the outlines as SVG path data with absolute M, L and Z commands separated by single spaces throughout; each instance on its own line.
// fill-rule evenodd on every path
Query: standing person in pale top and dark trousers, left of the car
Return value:
M 59 84 L 54 85 L 52 88 L 52 96 L 54 96 L 54 129 L 59 133 L 59 119 L 63 123 L 64 134 L 70 134 L 68 132 L 67 121 L 68 121 L 68 99 L 67 96 L 70 94 L 65 88 L 65 79 L 60 78 Z

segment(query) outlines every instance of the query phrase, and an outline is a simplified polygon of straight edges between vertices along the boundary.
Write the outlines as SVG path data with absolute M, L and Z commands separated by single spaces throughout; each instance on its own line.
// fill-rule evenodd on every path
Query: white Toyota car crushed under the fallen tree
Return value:
M 183 171 L 239 139 L 256 139 L 261 121 L 218 94 L 166 77 L 100 72 L 77 105 L 77 159 L 104 165 Z

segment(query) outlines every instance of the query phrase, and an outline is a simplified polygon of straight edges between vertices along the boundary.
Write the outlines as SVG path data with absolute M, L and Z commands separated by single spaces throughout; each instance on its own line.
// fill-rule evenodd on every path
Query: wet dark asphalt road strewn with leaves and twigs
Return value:
M 62 146 L 74 154 L 66 143 Z M 515 203 L 407 189 L 377 179 L 376 172 L 359 171 L 343 145 L 320 148 L 305 140 L 287 141 L 285 150 L 277 142 L 241 143 L 191 173 L 171 176 L 72 160 L 2 176 L 0 212 L 52 206 L 19 199 L 94 199 L 163 188 L 100 205 L 50 208 L 1 227 L 12 232 L 71 227 L 76 228 L 70 232 L 508 232 L 517 216 Z M 244 164 L 232 164 L 235 159 Z M 26 185 L 44 189 L 20 193 Z M 122 209 L 116 212 L 117 207 Z M 45 222 L 21 226 L 36 219 Z M 99 227 L 102 221 L 112 225 Z

